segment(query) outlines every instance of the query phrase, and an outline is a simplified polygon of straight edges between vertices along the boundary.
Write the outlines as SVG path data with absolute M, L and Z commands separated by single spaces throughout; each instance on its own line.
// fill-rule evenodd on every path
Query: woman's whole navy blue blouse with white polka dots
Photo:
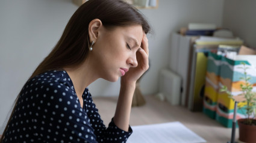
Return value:
M 113 118 L 105 127 L 88 88 L 80 105 L 66 71 L 48 71 L 23 87 L 3 142 L 126 142 L 133 132 Z

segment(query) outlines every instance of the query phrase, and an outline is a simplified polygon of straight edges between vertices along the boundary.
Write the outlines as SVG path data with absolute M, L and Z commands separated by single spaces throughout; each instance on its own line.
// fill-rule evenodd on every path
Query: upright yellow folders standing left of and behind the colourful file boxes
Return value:
M 237 54 L 243 40 L 201 36 L 195 40 L 190 53 L 186 105 L 191 111 L 202 111 L 208 52 L 222 52 L 228 56 Z

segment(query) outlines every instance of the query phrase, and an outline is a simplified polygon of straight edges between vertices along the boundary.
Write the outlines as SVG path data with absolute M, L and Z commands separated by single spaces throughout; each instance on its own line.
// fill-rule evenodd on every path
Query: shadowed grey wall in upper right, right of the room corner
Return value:
M 248 44 L 256 47 L 256 1 L 225 0 L 223 26 Z

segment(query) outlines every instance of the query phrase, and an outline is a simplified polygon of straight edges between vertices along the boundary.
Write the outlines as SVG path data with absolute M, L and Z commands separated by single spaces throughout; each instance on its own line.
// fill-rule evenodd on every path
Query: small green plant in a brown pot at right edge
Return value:
M 238 96 L 233 96 L 226 86 L 223 86 L 220 91 L 226 92 L 229 97 L 237 102 L 245 102 L 245 115 L 246 118 L 241 118 L 237 120 L 239 124 L 239 140 L 247 143 L 255 143 L 256 142 L 256 93 L 252 91 L 252 85 L 249 83 L 251 77 L 249 77 L 246 73 L 245 62 L 241 62 L 244 70 L 244 77 L 240 78 L 242 81 L 245 81 L 245 84 L 241 84 L 240 88 L 242 90 L 242 94 Z M 238 106 L 239 109 L 242 107 Z

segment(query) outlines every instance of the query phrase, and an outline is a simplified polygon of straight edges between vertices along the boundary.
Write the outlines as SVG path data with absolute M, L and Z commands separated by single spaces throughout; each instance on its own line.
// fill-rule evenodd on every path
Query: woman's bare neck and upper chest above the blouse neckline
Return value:
M 97 74 L 95 74 L 96 72 L 93 71 L 92 67 L 93 66 L 90 65 L 89 59 L 86 59 L 83 64 L 77 67 L 64 68 L 73 82 L 73 86 L 78 97 L 82 97 L 85 88 L 99 78 Z

